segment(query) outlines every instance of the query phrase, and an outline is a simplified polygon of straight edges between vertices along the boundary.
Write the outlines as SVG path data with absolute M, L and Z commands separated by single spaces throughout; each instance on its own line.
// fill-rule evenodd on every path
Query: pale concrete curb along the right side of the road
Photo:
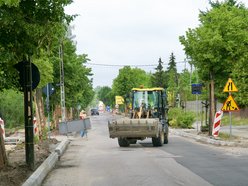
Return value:
M 201 142 L 201 143 L 208 143 L 208 144 L 212 144 L 212 145 L 216 145 L 216 146 L 248 147 L 248 144 L 247 143 L 242 143 L 242 141 L 241 142 L 223 141 L 223 140 L 214 139 L 214 138 L 210 138 L 210 137 L 204 137 L 204 136 L 201 136 L 201 135 L 192 134 L 190 132 L 185 132 L 183 130 L 176 130 L 176 129 L 172 129 L 172 130 L 170 130 L 170 132 L 172 134 L 175 134 L 175 135 L 178 135 L 178 136 L 192 138 L 195 141 L 198 141 L 198 142 Z

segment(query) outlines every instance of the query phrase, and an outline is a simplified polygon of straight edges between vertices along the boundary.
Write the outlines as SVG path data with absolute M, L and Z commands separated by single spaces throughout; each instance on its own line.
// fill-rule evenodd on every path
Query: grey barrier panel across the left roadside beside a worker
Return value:
M 73 120 L 59 123 L 59 133 L 68 134 L 72 132 L 81 132 L 91 128 L 90 118 Z

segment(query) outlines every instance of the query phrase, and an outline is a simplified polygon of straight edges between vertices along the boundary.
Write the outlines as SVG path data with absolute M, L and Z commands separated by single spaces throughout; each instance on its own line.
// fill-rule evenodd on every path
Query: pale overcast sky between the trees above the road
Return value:
M 243 0 L 248 5 L 248 0 Z M 199 25 L 199 10 L 208 0 L 74 0 L 67 14 L 79 14 L 72 23 L 77 53 L 88 54 L 90 63 L 109 65 L 155 65 L 139 68 L 154 72 L 161 57 L 167 68 L 170 54 L 178 71 L 186 58 L 179 36 Z M 110 86 L 119 66 L 92 68 L 93 87 Z M 186 65 L 188 68 L 188 65 Z

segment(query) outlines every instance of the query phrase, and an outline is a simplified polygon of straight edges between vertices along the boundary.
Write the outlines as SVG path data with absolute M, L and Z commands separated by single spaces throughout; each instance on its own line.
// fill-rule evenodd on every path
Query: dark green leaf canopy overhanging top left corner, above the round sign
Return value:
M 13 2 L 7 4 L 16 5 Z M 16 2 L 17 3 L 17 2 Z M 64 6 L 71 0 L 20 1 L 18 6 L 2 4 L 0 9 L 0 46 L 15 54 L 17 59 L 36 54 L 39 48 L 47 48 L 58 40 L 60 28 L 65 28 L 74 16 L 66 15 Z

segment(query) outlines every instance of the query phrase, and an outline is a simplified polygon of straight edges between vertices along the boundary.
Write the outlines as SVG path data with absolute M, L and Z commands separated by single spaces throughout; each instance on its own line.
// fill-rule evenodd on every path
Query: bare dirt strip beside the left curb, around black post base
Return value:
M 57 146 L 54 138 L 35 145 L 35 169 L 50 155 Z M 8 166 L 0 169 L 0 186 L 19 186 L 35 171 L 26 165 L 25 145 L 6 146 Z

